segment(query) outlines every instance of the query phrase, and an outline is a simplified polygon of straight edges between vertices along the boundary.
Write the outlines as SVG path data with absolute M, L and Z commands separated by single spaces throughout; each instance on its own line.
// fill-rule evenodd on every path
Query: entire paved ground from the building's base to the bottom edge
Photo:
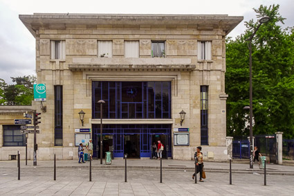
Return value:
M 293 195 L 294 192 L 291 166 L 268 165 L 267 186 L 264 186 L 262 171 L 246 172 L 248 164 L 241 163 L 232 164 L 235 170 L 230 185 L 228 163 L 205 163 L 207 179 L 194 184 L 193 161 L 163 160 L 163 183 L 156 167 L 160 161 L 156 160 L 129 160 L 127 182 L 125 170 L 120 167 L 125 160 L 114 160 L 111 166 L 101 166 L 100 161 L 94 160 L 92 181 L 89 181 L 89 162 L 77 165 L 75 162 L 57 161 L 54 181 L 53 161 L 39 161 L 35 167 L 32 161 L 28 166 L 21 161 L 21 180 L 17 180 L 16 161 L 0 161 L 0 195 Z M 140 163 L 144 165 L 139 166 Z

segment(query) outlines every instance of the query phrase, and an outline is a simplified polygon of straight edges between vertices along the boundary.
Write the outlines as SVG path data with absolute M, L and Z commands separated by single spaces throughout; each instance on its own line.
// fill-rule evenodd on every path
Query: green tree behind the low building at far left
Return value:
M 12 77 L 11 77 L 12 78 Z M 17 84 L 6 84 L 0 79 L 1 105 L 31 105 L 34 98 L 33 84 L 36 82 L 35 75 L 12 78 Z

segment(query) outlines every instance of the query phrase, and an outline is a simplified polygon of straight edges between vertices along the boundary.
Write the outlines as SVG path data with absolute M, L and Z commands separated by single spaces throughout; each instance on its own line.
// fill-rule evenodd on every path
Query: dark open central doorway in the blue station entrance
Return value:
M 140 134 L 124 135 L 124 154 L 128 158 L 140 158 Z

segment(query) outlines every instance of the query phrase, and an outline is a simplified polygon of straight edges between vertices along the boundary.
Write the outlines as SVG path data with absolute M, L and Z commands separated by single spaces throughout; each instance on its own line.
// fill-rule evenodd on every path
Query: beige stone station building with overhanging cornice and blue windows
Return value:
M 77 159 L 77 143 L 90 137 L 98 145 L 98 100 L 106 102 L 103 151 L 114 158 L 126 153 L 151 158 L 152 143 L 161 140 L 163 157 L 192 159 L 202 145 L 205 159 L 228 159 L 225 38 L 243 17 L 34 14 L 19 19 L 36 39 L 37 83 L 46 84 L 37 159 L 54 154 Z M 33 109 L 39 105 L 33 102 Z M 31 136 L 33 148 L 30 141 Z

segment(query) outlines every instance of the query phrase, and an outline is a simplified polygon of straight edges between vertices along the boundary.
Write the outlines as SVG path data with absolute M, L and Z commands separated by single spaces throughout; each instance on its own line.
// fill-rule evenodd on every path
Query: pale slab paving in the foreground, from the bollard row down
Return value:
M 9 174 L 9 175 L 8 175 Z M 293 195 L 293 176 L 206 172 L 205 182 L 194 184 L 192 172 L 163 171 L 163 183 L 154 170 L 93 170 L 86 168 L 26 168 L 17 180 L 17 170 L 0 168 L 0 195 Z

